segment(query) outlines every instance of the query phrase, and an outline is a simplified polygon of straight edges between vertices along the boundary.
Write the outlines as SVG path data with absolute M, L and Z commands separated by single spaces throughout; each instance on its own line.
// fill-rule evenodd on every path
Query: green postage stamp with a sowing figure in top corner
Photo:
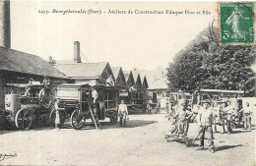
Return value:
M 254 44 L 254 3 L 220 2 L 222 44 Z

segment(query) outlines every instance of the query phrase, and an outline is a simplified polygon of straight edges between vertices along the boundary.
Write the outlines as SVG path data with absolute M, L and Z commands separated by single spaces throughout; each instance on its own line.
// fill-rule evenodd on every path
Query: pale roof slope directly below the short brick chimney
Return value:
M 107 64 L 108 62 L 61 64 L 55 68 L 70 78 L 95 78 L 101 76 Z

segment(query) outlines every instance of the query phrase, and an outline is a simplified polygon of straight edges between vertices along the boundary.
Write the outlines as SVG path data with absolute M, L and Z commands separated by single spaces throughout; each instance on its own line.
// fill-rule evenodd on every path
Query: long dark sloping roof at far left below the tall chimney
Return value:
M 68 79 L 39 56 L 0 47 L 0 70 Z

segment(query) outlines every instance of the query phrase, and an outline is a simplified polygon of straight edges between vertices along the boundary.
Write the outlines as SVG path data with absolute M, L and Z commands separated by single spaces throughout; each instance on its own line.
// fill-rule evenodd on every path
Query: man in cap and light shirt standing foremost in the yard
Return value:
M 207 135 L 207 138 L 210 141 L 209 150 L 211 152 L 215 152 L 214 134 L 212 129 L 214 113 L 213 110 L 210 108 L 210 100 L 203 100 L 202 104 L 203 106 L 198 111 L 198 124 L 200 127 L 200 145 L 198 149 L 204 148 L 204 139 L 206 138 L 205 135 Z

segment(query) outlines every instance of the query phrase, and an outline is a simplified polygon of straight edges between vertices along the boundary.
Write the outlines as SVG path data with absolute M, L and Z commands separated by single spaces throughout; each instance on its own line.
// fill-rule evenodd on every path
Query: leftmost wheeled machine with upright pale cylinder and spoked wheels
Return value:
M 7 83 L 11 93 L 5 95 L 5 119 L 20 130 L 29 130 L 33 124 L 48 124 L 51 106 L 50 89 L 45 84 Z M 14 89 L 25 91 L 24 95 Z

